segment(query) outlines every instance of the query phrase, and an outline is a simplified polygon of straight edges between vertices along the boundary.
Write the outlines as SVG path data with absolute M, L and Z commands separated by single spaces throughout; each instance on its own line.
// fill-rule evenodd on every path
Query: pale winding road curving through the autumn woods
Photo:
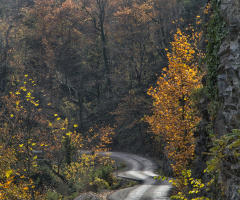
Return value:
M 170 200 L 172 185 L 168 181 L 158 181 L 154 177 L 157 166 L 141 156 L 112 152 L 111 157 L 127 163 L 127 168 L 117 173 L 119 177 L 141 181 L 141 185 L 118 190 L 108 195 L 109 200 Z

